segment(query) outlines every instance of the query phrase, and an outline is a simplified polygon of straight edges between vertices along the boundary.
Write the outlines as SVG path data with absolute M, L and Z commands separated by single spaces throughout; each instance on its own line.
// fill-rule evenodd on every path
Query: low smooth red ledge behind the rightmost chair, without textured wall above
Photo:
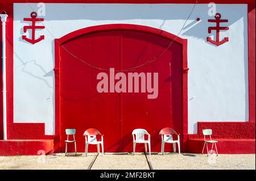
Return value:
M 219 154 L 255 154 L 255 139 L 215 139 L 217 140 L 217 150 Z M 192 138 L 188 140 L 189 153 L 202 153 L 204 139 Z M 212 144 L 208 144 L 208 149 L 211 149 Z M 215 148 L 213 147 L 213 150 Z M 204 149 L 204 154 L 207 153 L 207 148 Z

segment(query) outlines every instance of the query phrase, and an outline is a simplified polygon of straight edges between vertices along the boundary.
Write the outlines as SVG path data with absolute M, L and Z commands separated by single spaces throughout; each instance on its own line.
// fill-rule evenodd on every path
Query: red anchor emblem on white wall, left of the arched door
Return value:
M 36 16 L 38 16 L 38 14 L 36 14 L 36 12 L 31 12 L 30 16 L 31 16 L 31 18 L 24 18 L 23 20 L 26 21 L 26 22 L 32 22 L 32 25 L 31 26 L 24 26 L 23 31 L 24 31 L 24 33 L 26 33 L 28 29 L 31 29 L 32 39 L 28 39 L 26 37 L 26 35 L 22 35 L 22 40 L 26 40 L 29 43 L 35 44 L 35 43 L 38 43 L 39 41 L 44 39 L 44 35 L 40 36 L 39 39 L 35 39 L 35 30 L 45 28 L 44 26 L 35 26 L 35 23 L 36 22 L 43 22 L 44 19 L 43 18 L 36 18 Z

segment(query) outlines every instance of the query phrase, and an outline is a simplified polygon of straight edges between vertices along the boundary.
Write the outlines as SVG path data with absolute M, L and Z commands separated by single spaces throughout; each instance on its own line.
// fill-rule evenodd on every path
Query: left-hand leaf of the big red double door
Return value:
M 78 151 L 84 151 L 82 135 L 88 128 L 104 134 L 105 151 L 115 151 L 120 140 L 119 95 L 98 93 L 97 74 L 109 72 L 94 67 L 119 69 L 118 33 L 101 32 L 68 41 L 61 48 L 60 67 L 61 151 L 64 151 L 66 128 L 76 128 Z M 73 150 L 73 145 L 69 145 L 69 151 Z M 90 145 L 89 150 L 96 151 L 96 145 Z

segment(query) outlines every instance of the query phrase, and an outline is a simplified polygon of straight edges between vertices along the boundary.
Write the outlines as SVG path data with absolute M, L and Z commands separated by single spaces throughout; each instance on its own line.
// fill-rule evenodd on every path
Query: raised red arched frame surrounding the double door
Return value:
M 170 32 L 160 30 L 158 28 L 152 28 L 148 26 L 142 26 L 137 24 L 104 24 L 92 27 L 82 28 L 80 30 L 73 31 L 64 35 L 60 39 L 55 39 L 55 136 L 60 138 L 60 47 L 69 40 L 74 39 L 75 37 L 86 35 L 96 32 L 104 31 L 114 31 L 114 30 L 126 30 L 126 31 L 138 31 L 151 33 L 153 35 L 164 37 L 168 40 L 172 40 L 177 44 L 182 45 L 182 133 L 181 133 L 181 150 L 187 150 L 187 137 L 188 137 L 188 64 L 187 64 L 187 39 L 182 39 L 179 36 L 173 35 Z M 60 140 L 60 139 L 59 139 Z M 58 148 L 55 151 L 60 151 Z

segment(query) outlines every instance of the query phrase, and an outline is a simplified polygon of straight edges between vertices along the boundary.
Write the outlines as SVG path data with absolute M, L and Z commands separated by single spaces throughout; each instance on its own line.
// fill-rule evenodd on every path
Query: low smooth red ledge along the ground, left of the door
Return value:
M 42 155 L 53 153 L 53 140 L 0 140 L 0 155 Z

